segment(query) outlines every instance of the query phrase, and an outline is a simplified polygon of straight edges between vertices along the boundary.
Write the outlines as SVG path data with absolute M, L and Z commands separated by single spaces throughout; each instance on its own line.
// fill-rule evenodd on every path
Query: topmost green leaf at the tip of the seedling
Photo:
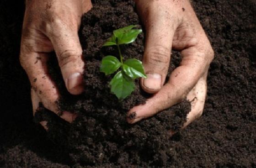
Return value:
M 117 43 L 120 44 L 129 44 L 136 40 L 139 33 L 142 32 L 141 29 L 133 29 L 135 25 L 126 26 L 120 29 L 115 30 L 114 36 L 117 38 Z

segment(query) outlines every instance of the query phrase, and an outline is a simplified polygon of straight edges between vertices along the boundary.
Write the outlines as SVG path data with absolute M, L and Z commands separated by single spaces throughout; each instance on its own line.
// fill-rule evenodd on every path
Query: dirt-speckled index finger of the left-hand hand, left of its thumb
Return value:
M 37 95 L 33 95 L 33 98 L 36 100 L 33 101 L 33 110 L 35 111 L 39 99 L 45 108 L 60 115 L 61 111 L 58 107 L 59 92 L 48 74 L 47 53 L 29 52 L 30 49 L 27 50 L 26 48 L 21 44 L 20 61 L 22 67 L 27 72 L 32 89 Z M 64 112 L 60 117 L 68 122 L 72 122 L 75 119 L 75 114 L 67 115 L 67 113 Z

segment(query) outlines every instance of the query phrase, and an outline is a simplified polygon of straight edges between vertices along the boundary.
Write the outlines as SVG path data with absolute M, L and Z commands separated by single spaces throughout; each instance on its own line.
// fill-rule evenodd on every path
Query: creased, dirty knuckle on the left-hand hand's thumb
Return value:
M 75 50 L 65 50 L 59 54 L 59 66 L 64 67 L 68 63 L 75 63 L 80 56 L 81 54 Z

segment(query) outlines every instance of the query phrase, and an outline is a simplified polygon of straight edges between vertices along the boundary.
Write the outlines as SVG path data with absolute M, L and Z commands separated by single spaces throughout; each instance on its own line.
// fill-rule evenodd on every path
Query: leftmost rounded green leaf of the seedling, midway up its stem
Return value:
M 106 75 L 114 73 L 121 66 L 120 61 L 111 55 L 102 58 L 100 71 Z

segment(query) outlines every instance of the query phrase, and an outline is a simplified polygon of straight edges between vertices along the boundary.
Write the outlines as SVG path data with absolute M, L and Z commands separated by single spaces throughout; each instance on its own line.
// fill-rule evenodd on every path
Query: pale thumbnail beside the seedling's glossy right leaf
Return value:
M 147 78 L 144 79 L 143 84 L 148 89 L 160 89 L 161 75 L 157 73 L 147 73 Z

